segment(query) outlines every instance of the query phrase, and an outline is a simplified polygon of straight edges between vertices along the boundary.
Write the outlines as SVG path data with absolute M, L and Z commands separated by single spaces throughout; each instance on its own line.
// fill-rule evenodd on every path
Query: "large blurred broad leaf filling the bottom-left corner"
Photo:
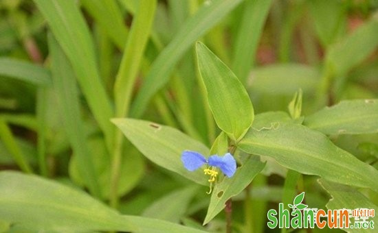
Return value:
M 120 215 L 74 188 L 35 175 L 0 172 L 0 219 L 28 231 L 201 232 L 158 219 Z

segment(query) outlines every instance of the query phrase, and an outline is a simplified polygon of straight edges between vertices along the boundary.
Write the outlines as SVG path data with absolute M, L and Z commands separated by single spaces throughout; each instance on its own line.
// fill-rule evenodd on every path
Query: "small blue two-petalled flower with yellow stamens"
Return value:
M 232 154 L 227 153 L 224 156 L 213 155 L 206 160 L 205 156 L 199 154 L 196 151 L 184 151 L 181 154 L 181 160 L 184 163 L 184 167 L 188 171 L 194 171 L 207 164 L 203 169 L 205 175 L 210 175 L 208 182 L 210 183 L 210 191 L 212 191 L 212 184 L 216 180 L 216 176 L 219 173 L 219 169 L 227 176 L 232 177 L 236 171 L 236 161 Z

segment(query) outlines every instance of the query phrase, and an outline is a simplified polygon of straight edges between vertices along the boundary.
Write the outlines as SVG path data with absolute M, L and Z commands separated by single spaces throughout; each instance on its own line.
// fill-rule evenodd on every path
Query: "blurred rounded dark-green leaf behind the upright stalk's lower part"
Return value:
M 88 145 L 91 161 L 93 161 L 98 183 L 100 184 L 101 197 L 102 199 L 109 199 L 111 158 L 107 154 L 104 138 L 92 136 L 88 138 L 86 144 Z M 135 147 L 131 147 L 131 145 L 129 145 L 127 149 L 125 146 L 123 151 L 118 196 L 122 196 L 131 191 L 144 174 L 144 162 L 139 151 L 137 151 Z M 80 167 L 78 155 L 74 154 L 69 162 L 69 175 L 76 184 L 87 186 L 88 184 L 85 181 L 85 177 L 80 175 L 79 171 L 81 169 L 85 169 L 85 167 Z

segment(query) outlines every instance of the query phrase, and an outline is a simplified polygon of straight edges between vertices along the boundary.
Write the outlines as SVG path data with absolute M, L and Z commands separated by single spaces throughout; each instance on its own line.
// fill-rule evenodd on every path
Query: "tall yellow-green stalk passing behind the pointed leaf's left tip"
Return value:
M 129 38 L 124 49 L 124 56 L 120 64 L 120 70 L 115 78 L 114 97 L 116 117 L 124 117 L 129 113 L 133 94 L 132 90 L 144 55 L 144 49 L 150 36 L 156 3 L 156 0 L 141 0 L 137 14 L 134 16 Z M 111 162 L 110 185 L 110 204 L 113 208 L 118 206 L 118 183 L 122 162 L 122 145 L 123 134 L 120 130 L 116 130 L 113 159 Z

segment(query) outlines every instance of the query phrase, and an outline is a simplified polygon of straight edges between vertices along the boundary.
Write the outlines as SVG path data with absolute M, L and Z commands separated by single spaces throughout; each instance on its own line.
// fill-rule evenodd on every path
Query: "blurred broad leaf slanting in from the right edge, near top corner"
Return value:
M 333 75 L 344 75 L 366 59 L 377 48 L 377 38 L 378 20 L 372 19 L 330 47 L 326 53 L 326 63 Z

